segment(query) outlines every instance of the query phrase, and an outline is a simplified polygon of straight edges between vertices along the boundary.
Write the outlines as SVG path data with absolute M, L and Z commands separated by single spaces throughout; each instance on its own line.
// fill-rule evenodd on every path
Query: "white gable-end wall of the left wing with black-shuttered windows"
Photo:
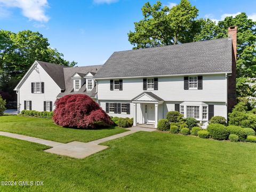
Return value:
M 52 111 L 60 87 L 36 61 L 15 88 L 19 111 L 23 109 Z

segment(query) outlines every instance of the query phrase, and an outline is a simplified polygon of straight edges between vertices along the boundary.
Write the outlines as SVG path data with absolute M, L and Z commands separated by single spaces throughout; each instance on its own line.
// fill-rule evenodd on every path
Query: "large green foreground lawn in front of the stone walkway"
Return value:
M 44 186 L 0 191 L 255 191 L 256 144 L 137 132 L 103 143 L 85 159 L 45 153 L 46 146 L 0 137 L 0 181 Z

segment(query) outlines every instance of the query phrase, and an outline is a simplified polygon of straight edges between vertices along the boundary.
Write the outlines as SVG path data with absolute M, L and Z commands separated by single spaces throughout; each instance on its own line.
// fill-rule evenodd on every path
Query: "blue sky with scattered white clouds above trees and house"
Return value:
M 51 47 L 78 66 L 104 63 L 114 51 L 130 50 L 127 33 L 142 19 L 143 0 L 0 0 L 0 28 L 39 31 Z M 149 1 L 154 4 L 156 1 Z M 163 5 L 179 1 L 162 0 Z M 256 20 L 256 1 L 191 0 L 199 17 L 220 20 L 246 12 Z

